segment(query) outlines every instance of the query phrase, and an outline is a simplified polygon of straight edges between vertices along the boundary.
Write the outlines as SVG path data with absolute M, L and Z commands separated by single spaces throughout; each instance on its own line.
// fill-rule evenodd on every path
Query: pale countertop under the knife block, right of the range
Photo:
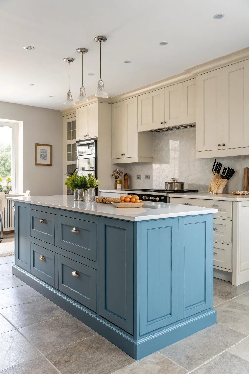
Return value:
M 183 192 L 169 193 L 168 197 L 184 197 L 186 199 L 207 199 L 224 201 L 249 201 L 249 195 L 233 195 L 231 193 L 210 193 L 210 192 Z

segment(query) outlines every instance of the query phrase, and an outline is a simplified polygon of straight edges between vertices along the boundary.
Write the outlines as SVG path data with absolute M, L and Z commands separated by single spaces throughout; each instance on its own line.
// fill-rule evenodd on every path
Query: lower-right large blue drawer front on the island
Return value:
M 97 270 L 61 255 L 58 268 L 59 290 L 97 312 Z

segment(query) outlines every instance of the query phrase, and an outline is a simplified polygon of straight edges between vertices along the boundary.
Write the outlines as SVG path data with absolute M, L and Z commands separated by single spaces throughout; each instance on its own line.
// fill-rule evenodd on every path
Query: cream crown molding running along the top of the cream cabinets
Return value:
M 246 59 L 249 59 L 249 47 L 237 50 L 236 52 L 228 53 L 228 55 L 212 59 L 210 61 L 204 62 L 203 64 L 193 66 L 191 68 L 185 69 L 182 73 L 176 74 L 172 77 L 159 80 L 155 83 L 150 83 L 149 85 L 134 89 L 133 91 L 113 96 L 112 98 L 110 97 L 108 99 L 104 99 L 96 97 L 94 95 L 89 96 L 88 101 L 78 101 L 77 104 L 73 107 L 61 110 L 60 112 L 63 116 L 67 116 L 68 114 L 74 114 L 77 108 L 84 107 L 85 105 L 89 105 L 94 102 L 105 102 L 108 104 L 113 104 L 118 101 L 130 99 L 134 96 L 143 95 L 144 93 L 156 91 L 167 86 L 172 86 L 176 83 L 185 82 L 186 80 L 195 78 L 199 74 L 207 73 L 208 71 L 219 69 L 227 65 L 235 64 L 236 62 L 240 62 Z

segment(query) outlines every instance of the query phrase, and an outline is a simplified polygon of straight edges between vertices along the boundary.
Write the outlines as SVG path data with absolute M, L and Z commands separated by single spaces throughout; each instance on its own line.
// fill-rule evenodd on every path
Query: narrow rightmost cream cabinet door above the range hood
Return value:
M 183 125 L 196 122 L 196 78 L 183 82 Z

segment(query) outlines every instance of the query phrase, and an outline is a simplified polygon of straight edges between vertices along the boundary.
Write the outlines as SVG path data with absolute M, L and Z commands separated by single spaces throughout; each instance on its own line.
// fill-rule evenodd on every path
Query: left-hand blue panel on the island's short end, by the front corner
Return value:
M 178 219 L 140 223 L 140 335 L 177 321 Z

